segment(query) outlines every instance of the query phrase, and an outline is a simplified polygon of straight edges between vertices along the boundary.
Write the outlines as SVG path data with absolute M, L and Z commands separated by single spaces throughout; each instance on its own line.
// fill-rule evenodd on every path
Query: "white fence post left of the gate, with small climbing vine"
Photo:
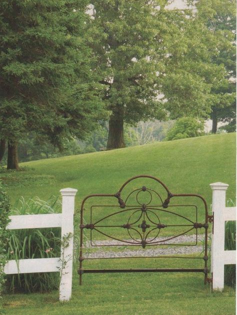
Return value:
M 62 195 L 62 222 L 61 222 L 61 277 L 59 286 L 59 300 L 69 300 L 72 284 L 73 260 L 73 214 L 74 200 L 77 189 L 64 188 Z

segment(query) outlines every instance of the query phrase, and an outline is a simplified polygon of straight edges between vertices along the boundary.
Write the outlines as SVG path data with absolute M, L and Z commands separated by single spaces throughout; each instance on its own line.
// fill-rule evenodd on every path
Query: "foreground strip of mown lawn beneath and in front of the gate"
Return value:
M 118 259 L 119 260 L 119 259 Z M 136 259 L 134 259 L 136 260 Z M 145 262 L 144 262 L 145 260 Z M 160 259 L 163 261 L 163 259 Z M 122 266 L 160 266 L 158 259 L 135 263 L 124 259 Z M 188 267 L 192 259 L 182 259 Z M 199 260 L 198 260 L 199 261 Z M 95 263 L 95 262 L 94 262 Z M 106 264 L 111 266 L 111 260 Z M 100 266 L 99 263 L 95 263 Z M 165 261 L 175 267 L 175 261 Z M 203 261 L 200 261 L 203 264 Z M 159 314 L 159 315 L 234 315 L 235 291 L 210 292 L 202 273 L 105 273 L 83 274 L 82 285 L 74 274 L 72 298 L 60 303 L 58 292 L 4 296 L 7 314 Z

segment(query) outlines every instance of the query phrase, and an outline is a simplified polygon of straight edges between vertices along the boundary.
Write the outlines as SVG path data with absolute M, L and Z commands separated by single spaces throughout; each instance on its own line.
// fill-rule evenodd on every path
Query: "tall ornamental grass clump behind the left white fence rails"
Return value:
M 57 197 L 48 201 L 39 198 L 25 201 L 21 197 L 11 214 L 45 214 L 61 211 Z M 10 230 L 6 245 L 6 259 L 50 258 L 60 256 L 60 228 Z M 59 286 L 59 272 L 21 273 L 6 276 L 6 290 L 13 292 L 50 291 Z

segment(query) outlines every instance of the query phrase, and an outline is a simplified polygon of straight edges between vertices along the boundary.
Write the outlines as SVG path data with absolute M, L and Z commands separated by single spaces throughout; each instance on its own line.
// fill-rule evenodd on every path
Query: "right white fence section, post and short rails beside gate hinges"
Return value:
M 224 287 L 224 265 L 236 264 L 236 250 L 224 250 L 225 221 L 236 221 L 236 207 L 225 206 L 228 184 L 215 182 L 212 189 L 212 214 L 214 218 L 211 239 L 212 289 Z

